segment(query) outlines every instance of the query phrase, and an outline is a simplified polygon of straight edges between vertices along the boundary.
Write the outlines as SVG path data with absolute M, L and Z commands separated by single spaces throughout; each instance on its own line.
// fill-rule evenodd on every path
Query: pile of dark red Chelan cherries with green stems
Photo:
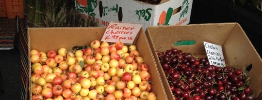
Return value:
M 210 65 L 176 48 L 157 51 L 176 100 L 258 100 L 242 70 Z

